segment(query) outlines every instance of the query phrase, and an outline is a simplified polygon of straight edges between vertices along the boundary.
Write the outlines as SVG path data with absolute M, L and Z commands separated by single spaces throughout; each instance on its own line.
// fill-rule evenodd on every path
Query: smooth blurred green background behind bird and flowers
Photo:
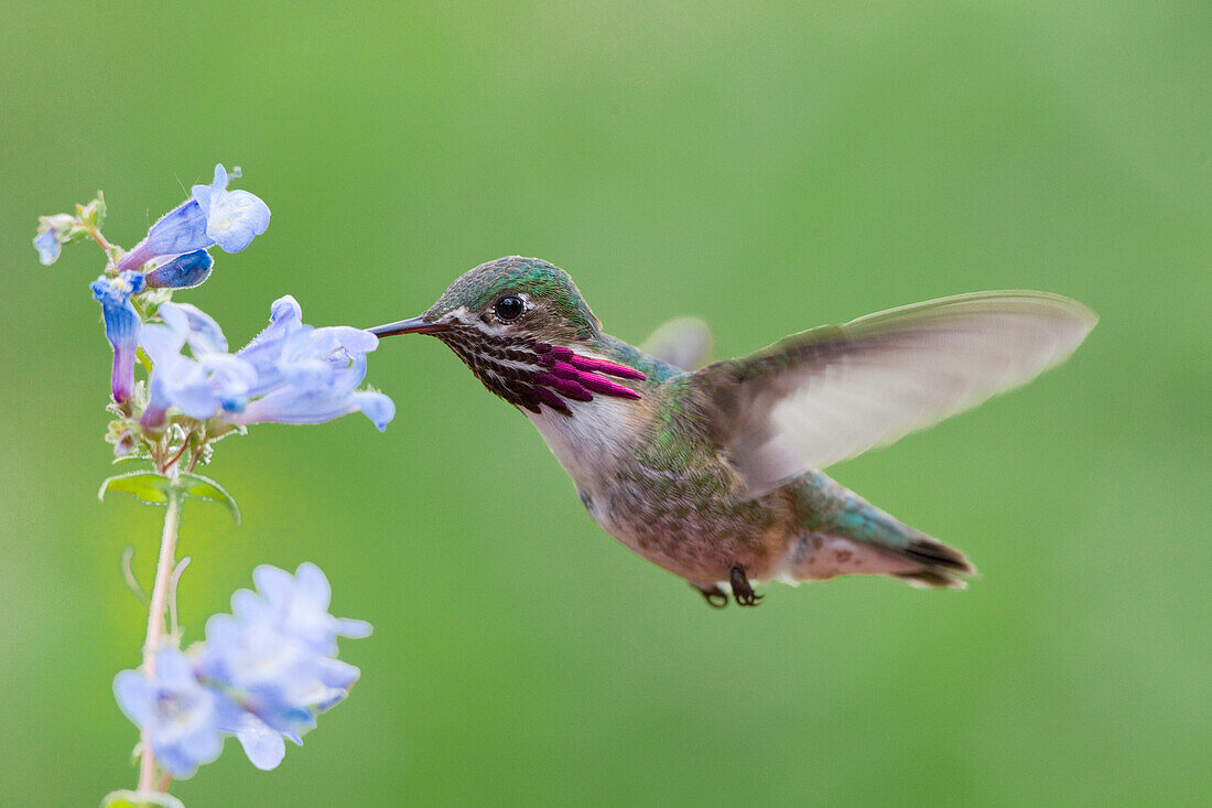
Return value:
M 966 550 L 966 593 L 848 579 L 708 609 L 584 514 L 440 343 L 384 343 L 353 416 L 259 427 L 185 513 L 198 637 L 258 563 L 319 563 L 348 702 L 191 806 L 1207 804 L 1212 6 L 1057 2 L 0 5 L 0 802 L 133 786 L 159 511 L 96 500 L 99 251 L 36 216 L 103 188 L 131 246 L 222 160 L 273 224 L 182 294 L 233 345 L 423 311 L 501 255 L 640 341 L 720 354 L 945 294 L 1102 323 L 1058 371 L 833 474 Z M 1100 6 L 1100 7 L 1096 7 Z

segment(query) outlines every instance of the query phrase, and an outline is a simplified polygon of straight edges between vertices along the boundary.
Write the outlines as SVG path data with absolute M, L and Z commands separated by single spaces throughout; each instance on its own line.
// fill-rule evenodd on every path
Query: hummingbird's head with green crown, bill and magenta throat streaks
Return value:
M 515 406 L 572 415 L 570 402 L 595 394 L 639 398 L 607 376 L 642 380 L 595 349 L 598 318 L 568 273 L 539 258 L 510 256 L 470 269 L 421 317 L 370 329 L 379 337 L 430 334 L 485 387 Z

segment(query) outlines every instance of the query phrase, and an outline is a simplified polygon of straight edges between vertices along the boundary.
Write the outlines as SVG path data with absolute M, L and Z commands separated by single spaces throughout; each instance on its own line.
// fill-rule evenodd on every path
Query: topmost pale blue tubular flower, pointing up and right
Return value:
M 253 237 L 269 227 L 269 206 L 247 190 L 228 190 L 227 186 L 228 172 L 218 164 L 215 181 L 210 186 L 194 186 L 190 199 L 160 217 L 118 268 L 137 269 L 153 258 L 206 250 L 216 244 L 227 252 L 248 246 Z

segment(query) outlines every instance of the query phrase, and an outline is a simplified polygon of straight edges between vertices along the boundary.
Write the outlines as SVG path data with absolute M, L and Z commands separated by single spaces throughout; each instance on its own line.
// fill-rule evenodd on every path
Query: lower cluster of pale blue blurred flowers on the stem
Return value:
M 161 648 L 154 673 L 122 671 L 114 695 L 142 728 L 156 759 L 176 778 L 219 756 L 235 735 L 248 759 L 273 769 L 290 739 L 345 698 L 359 670 L 337 655 L 337 637 L 366 637 L 371 626 L 328 614 L 332 590 L 315 564 L 295 575 L 276 567 L 253 573 L 257 591 L 231 596 L 233 614 L 212 616 L 206 641 L 189 653 Z

